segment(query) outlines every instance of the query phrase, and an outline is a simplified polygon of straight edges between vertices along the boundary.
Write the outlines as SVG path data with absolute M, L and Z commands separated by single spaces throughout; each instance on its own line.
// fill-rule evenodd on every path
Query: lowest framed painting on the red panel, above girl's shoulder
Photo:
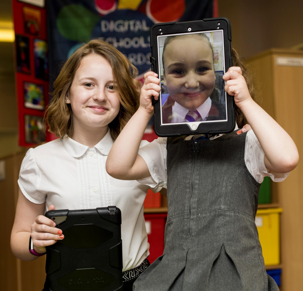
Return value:
M 45 125 L 42 116 L 24 115 L 25 142 L 38 144 L 45 141 Z

